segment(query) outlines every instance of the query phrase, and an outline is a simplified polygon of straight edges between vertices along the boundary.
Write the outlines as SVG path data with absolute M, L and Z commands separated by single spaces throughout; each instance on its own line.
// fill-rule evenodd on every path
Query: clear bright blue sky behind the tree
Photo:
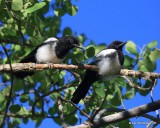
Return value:
M 110 43 L 113 40 L 132 40 L 141 47 L 150 41 L 160 42 L 160 1 L 159 0 L 79 0 L 73 1 L 79 8 L 77 15 L 63 16 L 62 28 L 69 26 L 78 34 L 85 33 L 97 44 Z M 53 14 L 51 10 L 50 15 Z M 158 44 L 160 48 L 160 44 Z M 160 65 L 160 61 L 158 61 Z M 160 72 L 160 67 L 156 72 Z M 158 84 L 157 84 L 158 85 Z M 154 100 L 159 99 L 158 85 L 154 89 Z M 131 100 L 124 101 L 127 109 L 151 102 L 150 97 L 136 94 Z M 155 112 L 152 112 L 155 115 Z M 134 118 L 131 121 L 149 121 L 144 118 Z M 23 128 L 34 127 L 34 123 L 22 125 Z M 40 128 L 59 128 L 52 120 L 43 121 Z M 146 125 L 134 125 L 135 128 L 145 128 Z

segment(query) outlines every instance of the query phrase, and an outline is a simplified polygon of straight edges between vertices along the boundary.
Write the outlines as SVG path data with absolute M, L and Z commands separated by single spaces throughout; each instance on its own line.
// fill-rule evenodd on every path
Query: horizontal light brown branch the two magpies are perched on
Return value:
M 45 69 L 88 69 L 88 70 L 97 70 L 98 67 L 95 65 L 67 65 L 67 64 L 35 64 L 35 63 L 16 63 L 12 64 L 13 72 L 18 71 L 36 71 L 36 70 L 45 70 Z M 10 65 L 0 65 L 0 72 L 11 72 Z M 138 77 L 138 78 L 147 78 L 147 79 L 157 79 L 160 78 L 159 73 L 154 72 L 142 72 L 134 71 L 128 69 L 121 69 L 120 75 Z

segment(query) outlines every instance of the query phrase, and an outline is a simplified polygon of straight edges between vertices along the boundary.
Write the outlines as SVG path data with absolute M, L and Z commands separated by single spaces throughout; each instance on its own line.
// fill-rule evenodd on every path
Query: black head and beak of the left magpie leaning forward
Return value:
M 80 49 L 84 49 L 83 46 L 80 45 L 79 41 L 75 37 L 66 36 L 66 37 L 64 37 L 64 40 L 66 41 L 67 45 L 70 48 L 77 47 L 77 48 L 80 48 Z

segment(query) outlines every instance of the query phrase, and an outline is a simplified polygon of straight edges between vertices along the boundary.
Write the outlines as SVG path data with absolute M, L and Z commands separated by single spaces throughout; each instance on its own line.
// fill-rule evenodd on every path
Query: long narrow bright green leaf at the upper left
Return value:
M 25 10 L 25 13 L 33 13 L 33 12 L 35 12 L 35 11 L 43 8 L 45 5 L 46 5 L 45 2 L 36 3 L 36 4 L 34 4 L 32 7 L 27 8 L 27 9 Z

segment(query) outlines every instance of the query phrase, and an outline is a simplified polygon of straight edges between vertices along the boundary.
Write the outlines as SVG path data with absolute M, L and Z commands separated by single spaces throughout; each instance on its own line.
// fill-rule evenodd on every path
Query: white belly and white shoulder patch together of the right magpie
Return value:
M 105 49 L 97 56 L 102 56 L 102 60 L 98 63 L 98 73 L 103 76 L 103 79 L 110 80 L 119 74 L 121 65 L 115 49 Z

